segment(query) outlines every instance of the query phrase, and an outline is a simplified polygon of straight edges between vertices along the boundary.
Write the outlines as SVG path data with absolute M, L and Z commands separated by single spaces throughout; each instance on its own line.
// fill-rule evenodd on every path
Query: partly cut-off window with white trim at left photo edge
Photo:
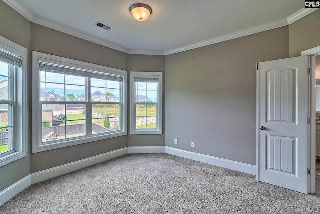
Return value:
M 27 155 L 27 49 L 0 36 L 0 166 Z

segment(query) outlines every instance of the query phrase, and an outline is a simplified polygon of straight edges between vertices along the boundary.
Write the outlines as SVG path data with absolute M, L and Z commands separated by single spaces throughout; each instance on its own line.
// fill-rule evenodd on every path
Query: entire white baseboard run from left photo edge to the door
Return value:
M 27 175 L 26 177 L 22 178 L 18 182 L 14 183 L 13 185 L 9 186 L 8 188 L 0 192 L 0 206 L 8 200 L 10 200 L 15 195 L 17 195 L 18 193 L 20 193 L 28 186 L 30 186 L 31 184 L 47 180 L 56 176 L 60 176 L 62 174 L 66 174 L 72 171 L 76 171 L 116 157 L 120 157 L 125 154 L 134 153 L 167 153 L 188 158 L 191 160 L 200 161 L 203 163 L 208 163 L 240 172 L 245 172 L 248 174 L 256 174 L 256 166 L 246 163 L 185 151 L 168 146 L 129 146 Z

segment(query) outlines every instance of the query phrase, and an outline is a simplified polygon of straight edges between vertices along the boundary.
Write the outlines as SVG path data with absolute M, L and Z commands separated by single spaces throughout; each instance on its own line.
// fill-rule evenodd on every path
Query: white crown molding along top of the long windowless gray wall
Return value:
M 164 53 L 165 53 L 165 55 L 175 54 L 178 52 L 187 51 L 187 50 L 191 50 L 191 49 L 195 49 L 195 48 L 200 48 L 203 46 L 212 45 L 215 43 L 224 42 L 227 40 L 232 40 L 232 39 L 236 39 L 236 38 L 243 37 L 243 36 L 248 36 L 251 34 L 271 30 L 274 28 L 279 28 L 279 27 L 286 26 L 286 25 L 288 25 L 287 20 L 282 19 L 282 20 L 279 20 L 276 22 L 266 23 L 266 24 L 252 27 L 252 28 L 248 28 L 248 29 L 245 29 L 242 31 L 237 31 L 237 32 L 234 32 L 231 34 L 226 34 L 226 35 L 215 37 L 215 38 L 212 38 L 209 40 L 204 40 L 201 42 L 193 43 L 191 45 L 182 46 L 182 47 L 175 48 L 175 49 L 170 49 L 170 50 L 165 51 Z

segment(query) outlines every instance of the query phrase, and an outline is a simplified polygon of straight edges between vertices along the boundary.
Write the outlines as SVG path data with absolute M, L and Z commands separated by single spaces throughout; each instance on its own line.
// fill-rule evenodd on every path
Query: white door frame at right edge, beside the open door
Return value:
M 309 68 L 311 69 L 311 74 L 309 76 L 309 101 L 308 101 L 308 108 L 309 108 L 309 118 L 311 118 L 311 124 L 308 130 L 308 138 L 310 139 L 308 142 L 308 168 L 310 169 L 310 174 L 308 176 L 308 193 L 314 194 L 315 193 L 315 148 L 316 148 L 316 141 L 315 141 L 315 56 L 320 55 L 320 46 L 316 46 L 305 51 L 301 52 L 301 56 L 309 56 L 310 61 Z

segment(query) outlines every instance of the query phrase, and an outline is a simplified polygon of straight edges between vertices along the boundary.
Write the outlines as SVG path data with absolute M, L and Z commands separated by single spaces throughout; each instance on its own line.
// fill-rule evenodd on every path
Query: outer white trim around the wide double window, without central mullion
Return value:
M 33 115 L 32 153 L 127 135 L 127 108 L 126 108 L 127 106 L 126 104 L 127 71 L 111 68 L 107 66 L 97 65 L 93 63 L 87 63 L 79 60 L 73 60 L 65 57 L 55 56 L 51 54 L 45 54 L 45 53 L 36 52 L 36 51 L 33 51 L 32 56 L 33 56 L 32 58 L 33 59 L 32 60 L 32 70 L 33 70 L 32 71 L 32 83 L 33 83 L 32 84 L 32 104 L 33 104 L 33 107 L 32 107 L 32 115 Z M 41 116 L 39 115 L 40 114 L 39 112 L 41 112 L 41 103 L 39 102 L 39 97 L 40 97 L 39 95 L 40 93 L 39 59 L 40 58 L 46 59 L 47 62 L 50 62 L 50 61 L 53 63 L 58 62 L 60 65 L 83 68 L 83 69 L 94 70 L 94 71 L 101 71 L 101 72 L 107 71 L 110 74 L 117 74 L 117 75 L 124 76 L 124 82 L 123 82 L 124 86 L 122 90 L 123 112 L 121 112 L 122 113 L 121 122 L 123 124 L 122 131 L 115 132 L 115 133 L 108 133 L 108 134 L 91 135 L 87 137 L 69 138 L 69 139 L 65 139 L 64 141 L 40 145 L 40 143 L 42 142 L 41 136 L 40 136 L 41 129 L 42 129 L 42 126 L 40 124 L 42 124 L 42 121 L 41 121 Z

